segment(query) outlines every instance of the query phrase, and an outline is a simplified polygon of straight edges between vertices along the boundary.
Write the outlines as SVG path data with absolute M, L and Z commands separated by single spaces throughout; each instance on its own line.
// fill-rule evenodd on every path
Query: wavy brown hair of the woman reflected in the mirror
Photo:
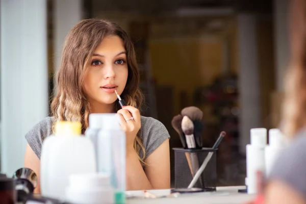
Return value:
M 109 35 L 119 36 L 126 50 L 128 76 L 121 98 L 128 106 L 140 109 L 143 95 L 139 89 L 139 71 L 131 39 L 117 23 L 86 19 L 76 24 L 65 38 L 61 64 L 56 73 L 57 96 L 51 104 L 54 121 L 80 121 L 82 133 L 87 129 L 91 108 L 83 90 L 84 75 L 91 64 L 94 50 Z M 114 112 L 119 108 L 118 103 L 114 103 Z M 134 148 L 143 162 L 145 149 L 140 131 L 135 138 Z

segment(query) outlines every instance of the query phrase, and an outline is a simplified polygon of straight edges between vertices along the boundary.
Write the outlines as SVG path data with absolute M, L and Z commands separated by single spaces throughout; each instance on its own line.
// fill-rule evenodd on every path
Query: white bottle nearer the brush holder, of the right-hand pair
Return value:
M 251 144 L 246 145 L 246 185 L 248 194 L 257 193 L 257 172 L 265 174 L 267 129 L 251 129 Z

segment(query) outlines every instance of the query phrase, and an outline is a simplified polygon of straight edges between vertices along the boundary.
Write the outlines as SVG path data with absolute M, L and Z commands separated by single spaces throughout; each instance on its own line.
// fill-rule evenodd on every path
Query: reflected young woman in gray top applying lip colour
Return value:
M 86 19 L 75 25 L 65 39 L 56 80 L 53 117 L 25 135 L 24 167 L 39 177 L 42 142 L 53 133 L 54 121 L 80 121 L 84 133 L 90 113 L 118 113 L 126 134 L 126 189 L 170 188 L 170 136 L 161 122 L 140 116 L 142 94 L 134 46 L 118 24 Z M 126 107 L 118 106 L 115 90 Z

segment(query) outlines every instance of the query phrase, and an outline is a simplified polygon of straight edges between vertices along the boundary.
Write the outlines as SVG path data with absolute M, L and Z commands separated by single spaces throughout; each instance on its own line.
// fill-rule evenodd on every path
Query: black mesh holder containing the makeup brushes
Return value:
M 217 171 L 216 171 L 216 151 L 213 148 L 184 149 L 173 148 L 174 150 L 174 187 L 187 188 L 193 179 L 196 168 L 199 168 L 209 152 L 213 156 L 201 173 L 198 181 L 193 186 L 204 191 L 216 191 Z M 194 168 L 195 167 L 195 168 Z

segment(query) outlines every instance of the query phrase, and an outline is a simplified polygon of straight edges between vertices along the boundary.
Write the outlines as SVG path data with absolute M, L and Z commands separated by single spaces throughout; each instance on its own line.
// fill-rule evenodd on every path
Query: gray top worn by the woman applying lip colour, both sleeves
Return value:
M 52 135 L 53 120 L 53 117 L 46 117 L 25 135 L 25 139 L 39 159 L 44 138 Z M 144 159 L 146 159 L 166 139 L 170 138 L 170 135 L 160 121 L 151 117 L 141 116 L 141 138 L 146 151 Z

